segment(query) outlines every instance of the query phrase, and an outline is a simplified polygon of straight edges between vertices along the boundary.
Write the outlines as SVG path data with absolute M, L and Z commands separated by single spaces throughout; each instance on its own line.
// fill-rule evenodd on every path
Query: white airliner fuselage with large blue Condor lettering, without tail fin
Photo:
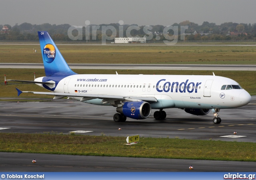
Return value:
M 35 81 L 42 81 L 42 77 Z M 56 93 L 84 93 L 154 97 L 152 109 L 194 108 L 226 109 L 241 107 L 251 100 L 244 89 L 221 89 L 223 85 L 238 85 L 232 79 L 210 75 L 70 75 L 56 86 Z M 40 85 L 42 86 L 42 85 Z M 78 101 L 81 97 L 72 97 Z M 139 98 L 138 98 L 139 99 Z M 102 99 L 83 101 L 96 105 Z

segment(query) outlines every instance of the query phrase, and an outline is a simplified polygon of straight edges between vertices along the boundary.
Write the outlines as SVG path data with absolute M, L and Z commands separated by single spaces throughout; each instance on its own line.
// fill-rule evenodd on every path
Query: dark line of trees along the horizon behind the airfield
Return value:
M 0 29 L 2 30 L 3 26 L 7 26 L 10 30 L 9 34 L 0 34 L 0 41 L 4 40 L 10 40 L 10 41 L 16 41 L 16 40 L 24 40 L 24 41 L 36 41 L 38 40 L 38 31 L 48 31 L 51 35 L 52 39 L 55 41 L 70 41 L 70 38 L 68 37 L 68 28 L 70 28 L 69 24 L 30 24 L 30 23 L 22 23 L 20 25 L 16 24 L 15 26 L 10 26 L 8 24 L 0 25 Z M 90 33 L 89 37 L 85 36 L 85 31 L 88 30 L 85 27 L 82 28 L 82 40 L 97 40 L 100 41 L 102 38 L 102 26 L 113 26 L 116 28 L 117 35 L 116 38 L 119 37 L 119 34 L 122 33 L 124 37 L 126 37 L 126 30 L 130 26 L 138 26 L 137 24 L 131 24 L 131 25 L 122 25 L 123 26 L 123 32 L 119 32 L 119 24 L 118 23 L 112 23 L 112 24 L 100 24 L 98 25 L 98 29 L 95 29 L 97 25 L 89 25 L 90 27 Z M 210 22 L 203 22 L 202 25 L 198 25 L 196 23 L 190 22 L 190 21 L 183 21 L 180 23 L 174 23 L 172 26 L 178 26 L 178 37 L 180 40 L 180 27 L 181 26 L 188 26 L 188 28 L 185 30 L 186 36 L 185 41 L 188 40 L 256 40 L 256 23 L 254 24 L 244 24 L 244 23 L 233 23 L 233 22 L 225 22 L 220 25 L 216 25 L 215 23 Z M 132 30 L 130 32 L 131 36 L 148 36 L 143 31 L 144 26 L 138 26 L 140 27 L 140 30 Z M 165 40 L 163 36 L 163 30 L 165 26 L 162 25 L 156 25 L 151 26 L 152 29 L 149 30 L 153 34 L 152 41 L 156 40 L 156 37 L 158 36 L 158 40 L 160 37 L 160 40 Z M 194 32 L 196 31 L 196 34 Z M 169 31 L 168 31 L 169 32 Z M 236 33 L 235 36 L 230 35 L 230 32 Z M 156 33 L 156 34 L 155 34 Z M 169 35 L 173 35 L 173 31 L 170 30 Z M 72 32 L 74 36 L 78 34 L 78 31 L 74 30 Z M 107 36 L 112 35 L 112 31 L 107 30 L 106 31 Z

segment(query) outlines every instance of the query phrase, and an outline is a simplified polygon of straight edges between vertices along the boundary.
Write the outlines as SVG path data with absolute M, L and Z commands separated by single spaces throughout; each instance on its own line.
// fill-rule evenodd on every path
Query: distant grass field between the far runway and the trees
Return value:
M 255 46 L 57 46 L 67 63 L 256 64 Z M 0 44 L 0 53 L 0 63 L 42 63 L 39 44 Z

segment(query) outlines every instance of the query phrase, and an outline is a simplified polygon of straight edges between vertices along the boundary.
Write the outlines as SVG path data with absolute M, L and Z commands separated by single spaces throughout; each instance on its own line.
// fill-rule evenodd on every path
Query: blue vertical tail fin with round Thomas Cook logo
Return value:
M 44 62 L 45 75 L 47 77 L 76 74 L 70 69 L 65 59 L 62 57 L 48 32 L 38 31 L 38 37 Z

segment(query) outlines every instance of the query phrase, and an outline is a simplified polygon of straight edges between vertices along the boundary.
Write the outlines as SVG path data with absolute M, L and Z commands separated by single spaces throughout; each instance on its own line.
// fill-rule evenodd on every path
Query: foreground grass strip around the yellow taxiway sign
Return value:
M 256 161 L 256 143 L 144 138 L 127 146 L 126 137 L 0 133 L 0 151 L 90 156 L 126 156 Z

